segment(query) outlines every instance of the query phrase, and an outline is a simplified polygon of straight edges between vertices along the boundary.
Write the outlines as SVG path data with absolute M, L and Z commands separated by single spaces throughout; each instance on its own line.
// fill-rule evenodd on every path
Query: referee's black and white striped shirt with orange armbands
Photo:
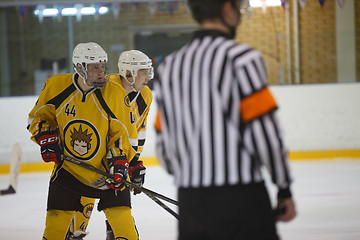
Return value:
M 272 180 L 288 192 L 287 152 L 258 51 L 201 30 L 158 68 L 157 155 L 182 188 Z

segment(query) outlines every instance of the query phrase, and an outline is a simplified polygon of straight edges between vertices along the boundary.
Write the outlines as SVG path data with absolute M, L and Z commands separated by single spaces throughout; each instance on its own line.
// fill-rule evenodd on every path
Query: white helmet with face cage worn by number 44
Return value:
M 73 66 L 75 72 L 77 72 L 84 79 L 84 83 L 89 87 L 101 88 L 109 79 L 109 64 L 107 53 L 100 47 L 99 44 L 94 42 L 79 43 L 76 45 L 73 51 Z M 87 70 L 88 64 L 93 63 L 105 63 L 105 76 L 103 82 L 92 82 L 87 81 Z M 78 67 L 81 65 L 81 68 Z

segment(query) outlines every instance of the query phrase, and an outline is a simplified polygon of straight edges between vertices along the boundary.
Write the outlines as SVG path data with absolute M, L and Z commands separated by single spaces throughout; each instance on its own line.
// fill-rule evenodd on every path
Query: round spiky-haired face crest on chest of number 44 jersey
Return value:
M 91 123 L 73 120 L 64 128 L 64 146 L 74 158 L 89 160 L 99 150 L 100 135 Z

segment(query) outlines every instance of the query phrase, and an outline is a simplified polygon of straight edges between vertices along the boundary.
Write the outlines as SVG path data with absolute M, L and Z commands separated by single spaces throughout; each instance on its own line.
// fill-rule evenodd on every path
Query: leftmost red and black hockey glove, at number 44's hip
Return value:
M 58 134 L 54 130 L 44 131 L 35 136 L 40 145 L 41 157 L 45 162 L 62 163 Z

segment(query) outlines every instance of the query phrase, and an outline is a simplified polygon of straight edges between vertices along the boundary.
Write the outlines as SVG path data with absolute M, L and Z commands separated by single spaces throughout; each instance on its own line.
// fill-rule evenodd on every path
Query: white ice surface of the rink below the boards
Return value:
M 278 224 L 281 239 L 360 239 L 360 159 L 295 161 L 291 169 L 298 216 L 290 223 Z M 0 196 L 1 240 L 41 239 L 49 175 L 20 174 L 18 192 Z M 176 199 L 172 182 L 161 167 L 148 167 L 145 187 Z M 9 175 L 0 175 L 0 189 L 8 184 Z M 270 195 L 274 200 L 272 186 Z M 132 201 L 141 240 L 177 238 L 177 220 L 172 215 L 144 194 L 134 196 Z M 104 214 L 94 210 L 85 239 L 105 239 L 104 220 Z

